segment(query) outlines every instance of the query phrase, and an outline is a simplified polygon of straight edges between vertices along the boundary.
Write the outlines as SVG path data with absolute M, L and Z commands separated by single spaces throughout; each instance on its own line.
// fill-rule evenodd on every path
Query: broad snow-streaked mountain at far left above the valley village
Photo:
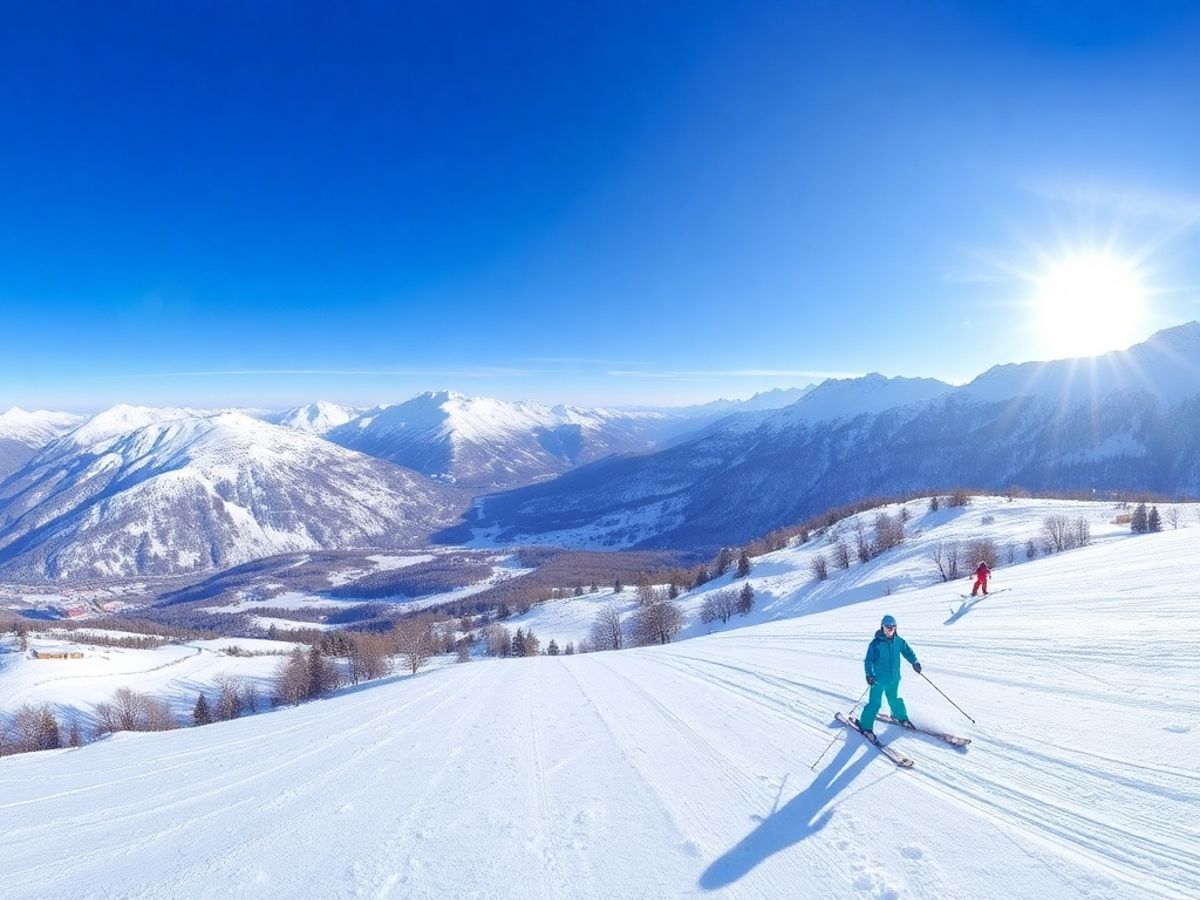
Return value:
M 181 574 L 278 552 L 421 542 L 454 488 L 236 412 L 118 407 L 0 491 L 0 571 Z

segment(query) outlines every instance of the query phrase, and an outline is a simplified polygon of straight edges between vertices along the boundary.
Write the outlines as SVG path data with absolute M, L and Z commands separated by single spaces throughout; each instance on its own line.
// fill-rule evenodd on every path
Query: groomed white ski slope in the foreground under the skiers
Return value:
M 6 757 L 0 884 L 6 898 L 1196 896 L 1198 552 L 1192 524 L 1002 570 L 1008 590 L 958 614 L 961 584 L 827 596 L 666 647 L 472 662 Z M 977 724 L 905 665 L 911 714 L 968 750 L 881 726 L 916 760 L 898 770 L 832 724 L 865 688 L 883 613 Z

